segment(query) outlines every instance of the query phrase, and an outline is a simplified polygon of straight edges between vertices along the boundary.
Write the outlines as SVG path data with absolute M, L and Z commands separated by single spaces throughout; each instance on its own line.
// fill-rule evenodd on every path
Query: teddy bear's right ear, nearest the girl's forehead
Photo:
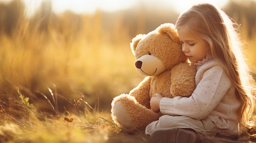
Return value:
M 160 26 L 157 27 L 157 31 L 159 33 L 166 33 L 175 42 L 179 42 L 179 43 L 181 42 L 179 35 L 177 33 L 177 29 L 175 29 L 174 24 L 171 24 L 171 23 L 161 24 Z

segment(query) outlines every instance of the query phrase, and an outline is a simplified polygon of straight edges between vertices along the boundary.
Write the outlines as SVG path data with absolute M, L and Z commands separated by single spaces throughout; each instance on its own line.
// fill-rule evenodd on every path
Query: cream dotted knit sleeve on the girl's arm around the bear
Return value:
M 220 66 L 207 69 L 190 97 L 164 97 L 160 101 L 162 114 L 204 119 L 218 105 L 231 87 L 231 82 Z

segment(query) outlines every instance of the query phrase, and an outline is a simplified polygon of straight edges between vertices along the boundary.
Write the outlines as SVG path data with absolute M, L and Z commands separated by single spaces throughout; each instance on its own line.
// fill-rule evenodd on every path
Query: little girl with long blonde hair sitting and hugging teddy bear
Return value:
M 201 3 L 178 18 L 175 27 L 182 51 L 196 65 L 191 97 L 150 100 L 162 117 L 146 127 L 154 142 L 194 143 L 209 136 L 237 137 L 249 125 L 254 109 L 255 81 L 242 54 L 237 26 L 219 8 Z

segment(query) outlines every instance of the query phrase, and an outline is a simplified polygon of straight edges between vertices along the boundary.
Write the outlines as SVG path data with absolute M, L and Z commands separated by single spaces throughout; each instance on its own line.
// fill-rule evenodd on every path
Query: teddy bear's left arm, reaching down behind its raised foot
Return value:
M 146 106 L 148 109 L 150 109 L 150 81 L 151 77 L 146 77 L 139 83 L 136 88 L 132 89 L 129 93 L 129 95 L 135 97 L 137 102 L 143 106 Z

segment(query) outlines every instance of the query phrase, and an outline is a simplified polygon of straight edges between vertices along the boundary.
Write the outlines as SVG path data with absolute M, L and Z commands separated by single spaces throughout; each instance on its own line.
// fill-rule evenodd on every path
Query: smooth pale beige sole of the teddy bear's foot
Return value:
M 115 103 L 114 110 L 115 117 L 121 125 L 124 125 L 125 128 L 132 128 L 132 122 L 129 112 L 124 108 L 124 105 L 121 101 Z

